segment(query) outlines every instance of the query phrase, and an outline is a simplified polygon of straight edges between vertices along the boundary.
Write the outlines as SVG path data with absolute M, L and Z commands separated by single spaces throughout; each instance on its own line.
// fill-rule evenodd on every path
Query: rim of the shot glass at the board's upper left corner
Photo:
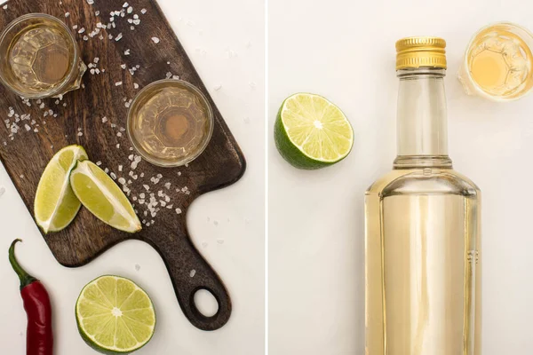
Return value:
M 68 85 L 68 83 L 70 82 L 70 79 L 72 78 L 72 76 L 76 74 L 76 68 L 77 68 L 76 63 L 78 62 L 78 59 L 79 59 L 79 56 L 80 56 L 79 49 L 78 49 L 78 44 L 76 42 L 76 37 L 72 34 L 72 32 L 70 31 L 70 28 L 68 28 L 67 24 L 65 22 L 63 22 L 62 20 L 58 19 L 55 16 L 49 15 L 48 13 L 42 13 L 42 12 L 27 13 L 25 15 L 22 15 L 22 16 L 16 18 L 15 20 L 12 20 L 4 28 L 2 33 L 0 33 L 0 43 L 3 43 L 4 40 L 5 40 L 5 37 L 12 31 L 12 29 L 15 26 L 19 25 L 21 22 L 23 22 L 25 20 L 29 20 L 29 19 L 42 19 L 42 18 L 47 19 L 47 20 L 52 20 L 53 22 L 59 24 L 61 28 L 65 29 L 65 31 L 68 34 L 68 38 L 70 39 L 70 41 L 71 41 L 71 43 L 73 44 L 73 47 L 74 47 L 74 59 L 73 59 L 74 64 L 70 68 L 70 71 L 68 72 L 68 75 L 65 75 L 65 77 L 63 78 L 62 83 L 59 86 L 57 86 L 56 88 L 53 88 L 52 90 L 49 90 L 49 91 L 44 91 L 44 92 L 40 92 L 38 94 L 29 94 L 29 95 L 26 92 L 22 92 L 22 91 L 19 91 L 19 90 L 15 89 L 10 83 L 8 83 L 5 80 L 4 75 L 2 74 L 2 71 L 0 71 L 0 82 L 2 82 L 7 88 L 9 88 L 9 90 L 15 92 L 16 94 L 20 95 L 21 97 L 23 97 L 25 99 L 50 98 L 50 97 L 53 97 L 54 95 L 59 94 L 61 91 L 63 91 L 65 89 L 65 87 Z

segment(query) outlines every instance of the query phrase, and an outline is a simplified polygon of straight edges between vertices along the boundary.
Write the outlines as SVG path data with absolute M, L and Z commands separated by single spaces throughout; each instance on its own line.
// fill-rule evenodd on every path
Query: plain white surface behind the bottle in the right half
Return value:
M 392 169 L 402 36 L 448 41 L 449 154 L 483 193 L 483 354 L 532 352 L 533 96 L 470 98 L 456 78 L 474 32 L 497 20 L 533 29 L 532 12 L 525 0 L 269 0 L 270 127 L 283 99 L 310 91 L 355 130 L 352 154 L 320 171 L 293 169 L 270 142 L 271 354 L 364 353 L 363 193 Z

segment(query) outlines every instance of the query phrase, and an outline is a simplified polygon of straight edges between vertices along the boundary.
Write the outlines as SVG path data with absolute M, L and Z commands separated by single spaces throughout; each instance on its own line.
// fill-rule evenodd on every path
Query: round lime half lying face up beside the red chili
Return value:
M 128 354 L 154 335 L 154 304 L 133 281 L 100 276 L 78 296 L 76 322 L 85 343 L 95 351 Z

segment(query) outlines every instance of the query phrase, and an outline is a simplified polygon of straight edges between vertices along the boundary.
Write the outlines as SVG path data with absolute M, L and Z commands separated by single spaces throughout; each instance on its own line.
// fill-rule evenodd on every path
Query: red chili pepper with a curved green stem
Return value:
M 9 248 L 9 262 L 20 279 L 20 295 L 24 309 L 28 314 L 28 329 L 26 335 L 27 355 L 52 355 L 52 306 L 50 297 L 41 281 L 29 275 L 20 266 L 15 257 L 15 244 L 20 239 L 12 242 Z

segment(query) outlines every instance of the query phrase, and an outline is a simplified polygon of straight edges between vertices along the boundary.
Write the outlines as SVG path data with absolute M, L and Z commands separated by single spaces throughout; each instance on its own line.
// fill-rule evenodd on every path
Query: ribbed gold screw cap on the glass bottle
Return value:
M 396 42 L 396 70 L 418 67 L 446 69 L 446 41 L 439 37 L 407 37 Z

